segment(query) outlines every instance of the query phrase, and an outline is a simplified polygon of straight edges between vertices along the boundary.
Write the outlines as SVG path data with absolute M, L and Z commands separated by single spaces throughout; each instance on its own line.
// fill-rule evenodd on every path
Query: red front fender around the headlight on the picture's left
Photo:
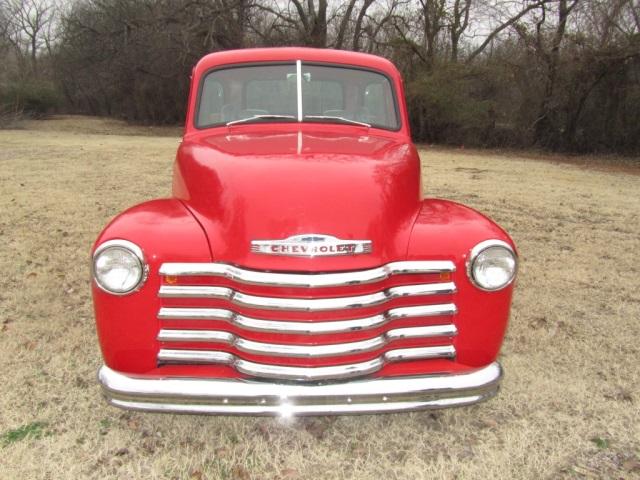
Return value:
M 127 373 L 156 367 L 156 340 L 160 302 L 158 270 L 164 262 L 210 262 L 205 234 L 189 210 L 176 199 L 152 200 L 114 218 L 98 236 L 93 249 L 107 240 L 122 239 L 138 245 L 149 275 L 144 285 L 129 295 L 116 296 L 92 281 L 93 305 L 105 363 Z

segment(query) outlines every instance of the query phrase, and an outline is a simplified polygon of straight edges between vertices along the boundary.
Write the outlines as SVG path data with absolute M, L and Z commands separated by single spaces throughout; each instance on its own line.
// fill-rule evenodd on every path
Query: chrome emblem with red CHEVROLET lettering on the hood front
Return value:
M 288 257 L 333 257 L 371 253 L 371 240 L 341 240 L 331 235 L 305 233 L 282 240 L 252 240 L 251 251 Z

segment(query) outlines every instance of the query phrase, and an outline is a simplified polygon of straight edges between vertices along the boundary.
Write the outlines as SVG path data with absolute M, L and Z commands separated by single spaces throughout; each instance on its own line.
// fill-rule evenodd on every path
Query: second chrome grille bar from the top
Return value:
M 399 287 L 391 287 L 381 292 L 357 295 L 353 297 L 280 298 L 249 295 L 226 287 L 162 285 L 158 296 L 161 298 L 217 298 L 226 299 L 236 305 L 250 308 L 321 312 L 327 310 L 370 307 L 386 303 L 394 298 L 438 295 L 454 293 L 455 291 L 455 283 L 445 282 L 403 285 Z

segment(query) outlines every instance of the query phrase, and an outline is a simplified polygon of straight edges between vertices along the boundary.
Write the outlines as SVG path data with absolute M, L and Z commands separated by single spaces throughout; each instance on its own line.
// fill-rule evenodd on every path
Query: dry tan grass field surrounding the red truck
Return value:
M 88 251 L 119 211 L 169 195 L 175 133 L 74 118 L 0 131 L 0 479 L 640 478 L 629 168 L 423 152 L 428 194 L 486 212 L 520 249 L 487 403 L 288 422 L 107 406 Z

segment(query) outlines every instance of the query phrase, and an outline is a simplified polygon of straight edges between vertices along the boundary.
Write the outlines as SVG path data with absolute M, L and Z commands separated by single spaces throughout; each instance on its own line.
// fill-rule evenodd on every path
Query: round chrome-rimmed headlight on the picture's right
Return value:
M 511 246 L 500 240 L 487 240 L 473 247 L 467 274 L 482 290 L 500 290 L 516 276 L 518 260 Z

